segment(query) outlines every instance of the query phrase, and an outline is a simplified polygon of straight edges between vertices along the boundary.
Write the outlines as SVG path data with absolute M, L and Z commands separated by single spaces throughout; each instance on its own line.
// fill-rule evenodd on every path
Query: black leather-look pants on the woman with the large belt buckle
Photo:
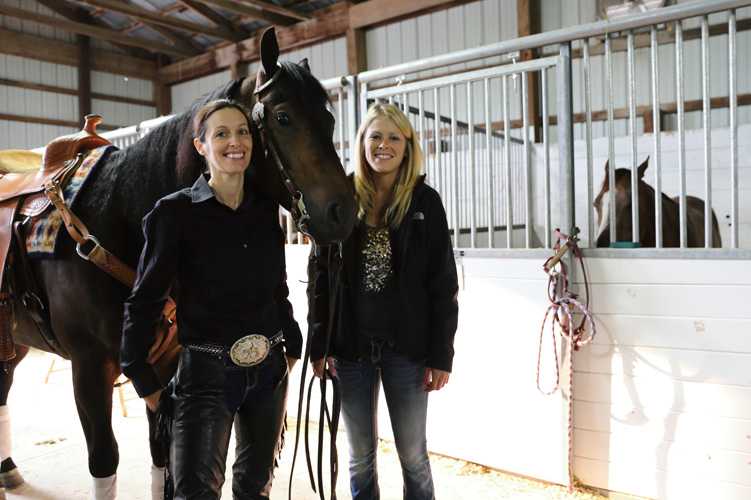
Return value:
M 287 364 L 281 347 L 253 368 L 183 349 L 173 395 L 170 448 L 175 500 L 221 497 L 233 422 L 237 443 L 233 497 L 268 498 L 286 398 Z

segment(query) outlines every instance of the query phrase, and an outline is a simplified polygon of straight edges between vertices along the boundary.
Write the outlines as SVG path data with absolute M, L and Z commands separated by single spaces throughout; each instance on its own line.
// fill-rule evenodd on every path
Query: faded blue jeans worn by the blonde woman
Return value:
M 384 346 L 379 360 L 337 359 L 342 415 L 349 439 L 350 490 L 353 500 L 378 500 L 378 393 L 381 383 L 402 466 L 405 500 L 433 500 L 425 422 L 428 393 L 423 389 L 425 364 Z

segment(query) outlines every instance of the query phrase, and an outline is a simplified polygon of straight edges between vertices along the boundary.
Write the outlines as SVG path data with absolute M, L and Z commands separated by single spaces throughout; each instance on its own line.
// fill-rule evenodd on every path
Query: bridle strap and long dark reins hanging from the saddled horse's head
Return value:
M 276 141 L 274 140 L 273 134 L 269 133 L 269 127 L 266 124 L 266 107 L 263 104 L 263 102 L 260 99 L 260 94 L 271 87 L 274 82 L 276 82 L 279 75 L 282 73 L 282 67 L 278 66 L 277 71 L 272 75 L 272 77 L 261 84 L 259 87 L 255 89 L 253 92 L 254 95 L 259 96 L 258 101 L 253 106 L 253 109 L 251 111 L 251 120 L 253 121 L 253 124 L 258 128 L 258 131 L 261 135 L 261 141 L 263 142 L 264 148 L 268 152 L 268 156 L 270 157 L 271 161 L 274 162 L 274 165 L 276 165 L 276 168 L 279 172 L 279 175 L 282 178 L 282 183 L 284 184 L 285 189 L 290 195 L 291 204 L 290 204 L 290 214 L 292 215 L 293 220 L 295 221 L 295 224 L 298 228 L 298 230 L 306 235 L 308 235 L 308 223 L 310 221 L 310 215 L 308 214 L 307 207 L 305 206 L 305 200 L 303 198 L 302 190 L 297 186 L 295 181 L 292 179 L 292 176 L 289 174 L 288 169 L 284 166 L 284 162 L 282 161 L 282 157 L 279 154 L 279 147 L 276 144 Z M 316 246 L 315 241 L 313 241 L 314 245 L 314 258 L 319 258 L 319 250 L 320 248 Z M 334 250 L 336 250 L 336 253 L 334 253 Z M 327 252 L 327 269 L 328 269 L 328 290 L 329 290 L 329 311 L 328 311 L 328 324 L 326 328 L 326 347 L 324 350 L 323 360 L 324 360 L 324 367 L 326 364 L 326 360 L 328 359 L 329 355 L 329 346 L 331 344 L 331 337 L 332 332 L 334 329 L 334 320 L 336 318 L 336 302 L 337 302 L 337 296 L 339 291 L 339 285 L 340 285 L 340 278 L 341 278 L 341 252 L 342 252 L 342 246 L 341 244 L 338 245 L 332 245 L 329 247 L 329 251 Z M 332 255 L 333 254 L 333 255 Z M 317 276 L 315 277 L 317 281 Z M 338 453 L 336 449 L 336 435 L 339 428 L 339 414 L 341 412 L 341 395 L 339 390 L 339 383 L 338 380 L 332 376 L 332 373 L 328 368 L 324 369 L 324 374 L 320 378 L 319 381 L 319 387 L 321 391 L 321 405 L 319 409 L 319 415 L 318 415 L 318 449 L 317 449 L 317 474 L 313 473 L 313 460 L 311 458 L 310 454 L 310 429 L 309 429 L 309 423 L 310 423 L 310 407 L 311 407 L 311 399 L 312 399 L 312 389 L 313 384 L 315 382 L 316 376 L 313 374 L 310 378 L 310 382 L 307 384 L 307 398 L 305 397 L 305 377 L 307 373 L 308 363 L 310 362 L 310 348 L 311 348 L 311 338 L 312 338 L 312 331 L 308 330 L 307 335 L 307 341 L 305 343 L 305 354 L 303 356 L 303 366 L 302 366 L 302 373 L 300 377 L 300 393 L 298 396 L 298 402 L 297 402 L 297 425 L 295 429 L 295 446 L 294 451 L 292 455 L 292 467 L 290 469 L 290 481 L 289 481 L 289 491 L 288 491 L 288 497 L 291 500 L 292 499 L 292 478 L 293 474 L 295 472 L 295 462 L 297 460 L 297 450 L 299 448 L 300 444 L 300 422 L 302 420 L 302 409 L 303 409 L 303 403 L 305 402 L 306 410 L 305 410 L 305 457 L 308 467 L 308 476 L 310 478 L 310 485 L 313 488 L 313 491 L 318 493 L 318 496 L 320 500 L 325 500 L 325 492 L 324 492 L 324 482 L 323 482 L 323 446 L 324 446 L 324 425 L 328 427 L 329 430 L 329 438 L 330 438 L 330 448 L 329 448 L 329 466 L 331 469 L 330 474 L 330 486 L 331 486 L 331 500 L 336 500 L 336 482 L 338 477 L 338 471 L 339 471 L 339 463 L 338 463 Z M 328 404 L 326 401 L 326 391 L 327 391 L 327 382 L 331 381 L 332 385 L 332 392 L 333 392 L 333 401 L 332 401 L 332 407 L 329 411 Z M 317 486 L 317 487 L 316 487 Z

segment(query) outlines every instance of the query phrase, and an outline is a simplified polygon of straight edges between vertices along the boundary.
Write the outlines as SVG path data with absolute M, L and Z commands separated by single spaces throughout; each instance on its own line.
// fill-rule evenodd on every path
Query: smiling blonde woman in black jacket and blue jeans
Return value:
M 355 151 L 359 223 L 342 249 L 342 286 L 328 349 L 327 250 L 311 257 L 309 265 L 313 370 L 322 375 L 328 352 L 328 368 L 342 392 L 352 498 L 379 498 L 376 417 L 382 384 L 404 498 L 432 499 L 428 393 L 449 380 L 458 316 L 446 213 L 420 174 L 420 144 L 399 108 L 371 107 Z

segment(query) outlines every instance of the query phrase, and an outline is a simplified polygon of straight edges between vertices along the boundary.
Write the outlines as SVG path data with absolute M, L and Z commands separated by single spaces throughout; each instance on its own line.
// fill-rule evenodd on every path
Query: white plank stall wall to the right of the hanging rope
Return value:
M 588 259 L 575 473 L 657 499 L 751 498 L 748 261 Z

